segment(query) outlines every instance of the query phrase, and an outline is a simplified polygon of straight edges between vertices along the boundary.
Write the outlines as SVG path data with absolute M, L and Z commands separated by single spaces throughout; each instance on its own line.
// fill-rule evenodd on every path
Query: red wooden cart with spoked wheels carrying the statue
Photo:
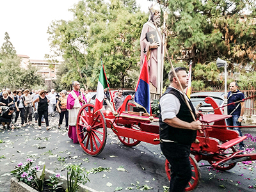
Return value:
M 211 97 L 205 102 L 214 109 L 218 104 Z M 118 139 L 126 146 L 138 145 L 141 141 L 158 145 L 158 118 L 147 113 L 135 112 L 140 108 L 128 95 L 122 106 L 115 111 L 94 111 L 93 104 L 85 104 L 77 115 L 77 138 L 84 152 L 90 156 L 97 156 L 102 152 L 107 138 L 107 128 L 115 132 Z M 117 112 L 117 113 L 116 113 Z M 115 114 L 115 115 L 114 115 Z M 233 147 L 246 136 L 240 137 L 236 131 L 228 130 L 221 109 L 214 110 L 214 114 L 200 117 L 204 125 L 203 133 L 197 132 L 196 142 L 191 145 L 191 170 L 193 172 L 186 191 L 195 189 L 200 179 L 198 162 L 208 161 L 218 170 L 229 170 L 239 161 L 252 161 L 256 154 L 243 154 Z M 170 164 L 166 160 L 165 170 L 170 180 Z

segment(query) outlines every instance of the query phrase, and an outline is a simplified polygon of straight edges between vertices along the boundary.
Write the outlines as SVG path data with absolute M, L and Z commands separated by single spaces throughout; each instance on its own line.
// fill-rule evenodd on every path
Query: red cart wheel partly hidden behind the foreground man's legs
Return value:
M 188 186 L 185 188 L 185 191 L 191 191 L 198 186 L 199 181 L 200 181 L 200 168 L 196 162 L 196 159 L 193 156 L 189 156 L 189 161 L 191 164 L 191 171 L 192 171 L 192 177 L 188 182 Z M 170 163 L 166 159 L 165 161 L 165 172 L 169 180 L 171 180 L 171 167 Z

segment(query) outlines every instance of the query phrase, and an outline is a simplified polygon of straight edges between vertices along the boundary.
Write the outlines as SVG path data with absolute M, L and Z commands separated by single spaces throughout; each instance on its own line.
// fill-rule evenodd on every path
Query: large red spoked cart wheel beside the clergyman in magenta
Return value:
M 107 139 L 107 125 L 102 111 L 94 111 L 93 104 L 85 104 L 77 115 L 77 139 L 84 152 L 97 156 L 102 152 Z

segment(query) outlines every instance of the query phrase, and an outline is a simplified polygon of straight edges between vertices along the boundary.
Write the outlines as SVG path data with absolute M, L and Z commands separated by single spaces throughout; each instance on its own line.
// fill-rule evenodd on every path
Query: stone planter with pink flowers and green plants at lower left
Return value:
M 67 177 L 61 176 L 60 173 L 54 173 L 44 168 L 40 170 L 39 166 L 33 166 L 34 161 L 27 159 L 26 163 L 19 163 L 11 174 L 15 177 L 11 179 L 10 192 L 16 191 L 43 191 L 45 185 L 51 191 L 60 190 L 66 192 L 88 191 L 97 192 L 84 186 L 88 179 L 88 172 L 85 168 L 77 164 L 68 164 Z M 20 190 L 22 188 L 22 190 Z

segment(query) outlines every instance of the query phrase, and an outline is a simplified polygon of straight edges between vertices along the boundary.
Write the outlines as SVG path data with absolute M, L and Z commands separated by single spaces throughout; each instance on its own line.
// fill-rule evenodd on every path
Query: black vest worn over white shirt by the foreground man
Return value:
M 186 104 L 186 101 L 184 100 L 184 96 L 182 93 L 180 93 L 178 90 L 175 90 L 174 88 L 168 87 L 166 92 L 163 94 L 173 94 L 175 95 L 179 101 L 180 101 L 180 109 L 179 113 L 177 114 L 177 118 L 184 122 L 191 123 L 194 121 L 193 116 L 191 115 L 191 112 L 189 111 L 189 108 Z M 162 97 L 163 97 L 162 95 Z M 161 99 L 161 98 L 160 98 Z M 172 102 L 172 100 L 170 100 Z M 195 109 L 193 107 L 193 104 L 189 100 L 189 105 L 191 106 L 191 109 L 195 115 Z M 159 110 L 160 110 L 160 115 L 159 115 L 159 136 L 161 139 L 164 140 L 172 140 L 172 141 L 177 141 L 178 143 L 186 144 L 186 145 L 191 145 L 193 141 L 196 139 L 196 131 L 194 130 L 189 130 L 189 129 L 179 129 L 172 127 L 162 121 L 162 116 L 161 116 L 161 106 L 159 104 Z M 195 115 L 196 116 L 196 115 Z

